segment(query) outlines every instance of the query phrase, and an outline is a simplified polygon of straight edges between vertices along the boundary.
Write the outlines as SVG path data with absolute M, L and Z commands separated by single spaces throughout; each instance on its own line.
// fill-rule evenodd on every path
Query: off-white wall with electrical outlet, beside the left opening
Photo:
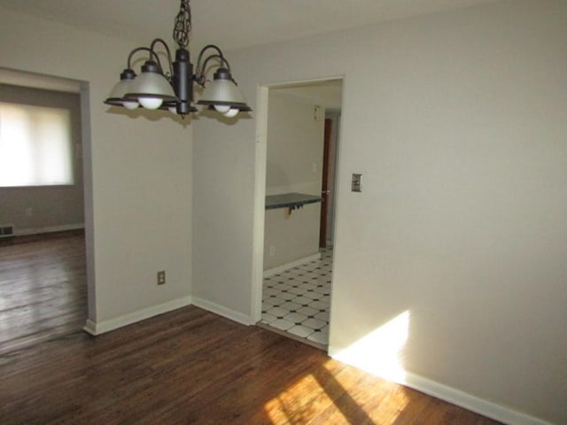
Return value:
M 7 10 L 0 10 L 0 28 L 1 67 L 89 84 L 83 151 L 91 330 L 187 303 L 190 127 L 159 114 L 109 112 L 103 104 L 128 52 L 150 40 L 124 42 Z M 158 270 L 167 271 L 159 287 Z

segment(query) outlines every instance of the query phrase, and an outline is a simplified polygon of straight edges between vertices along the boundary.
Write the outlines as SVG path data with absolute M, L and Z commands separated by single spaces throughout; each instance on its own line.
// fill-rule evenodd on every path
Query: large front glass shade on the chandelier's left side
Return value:
M 159 109 L 163 102 L 177 100 L 173 87 L 152 60 L 142 66 L 142 73 L 132 81 L 125 98 L 139 102 L 147 109 Z

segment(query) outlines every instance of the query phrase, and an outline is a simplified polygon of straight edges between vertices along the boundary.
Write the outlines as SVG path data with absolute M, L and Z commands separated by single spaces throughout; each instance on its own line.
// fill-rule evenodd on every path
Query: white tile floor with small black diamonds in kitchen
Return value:
M 329 344 L 332 254 L 322 250 L 319 260 L 264 278 L 260 323 L 296 338 Z

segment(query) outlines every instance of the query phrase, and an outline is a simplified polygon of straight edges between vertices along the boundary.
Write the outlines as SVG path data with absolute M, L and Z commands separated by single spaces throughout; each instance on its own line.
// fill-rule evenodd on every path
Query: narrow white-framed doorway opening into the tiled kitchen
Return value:
M 264 94 L 258 324 L 326 349 L 342 80 L 270 86 Z

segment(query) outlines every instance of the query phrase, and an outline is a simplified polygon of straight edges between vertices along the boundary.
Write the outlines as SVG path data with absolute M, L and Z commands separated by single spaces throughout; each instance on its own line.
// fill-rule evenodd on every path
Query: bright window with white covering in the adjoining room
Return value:
M 71 112 L 0 102 L 0 187 L 74 184 Z

